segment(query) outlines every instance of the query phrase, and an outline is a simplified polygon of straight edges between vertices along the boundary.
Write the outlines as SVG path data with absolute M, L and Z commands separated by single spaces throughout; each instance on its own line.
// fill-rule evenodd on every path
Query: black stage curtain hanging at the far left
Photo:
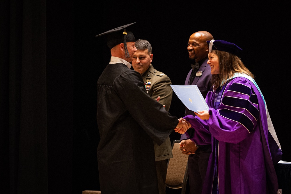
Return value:
M 1 193 L 72 193 L 72 7 L 1 1 Z

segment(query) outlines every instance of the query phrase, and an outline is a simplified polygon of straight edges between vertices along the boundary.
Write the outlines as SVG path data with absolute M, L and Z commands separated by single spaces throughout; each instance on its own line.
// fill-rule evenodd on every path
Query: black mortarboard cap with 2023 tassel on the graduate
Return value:
M 129 58 L 130 56 L 127 50 L 126 42 L 135 42 L 135 38 L 133 33 L 131 31 L 125 30 L 125 28 L 131 26 L 132 24 L 135 24 L 135 22 L 98 34 L 95 37 L 107 34 L 107 46 L 110 49 L 112 49 L 113 47 L 120 43 L 124 43 L 125 56 Z

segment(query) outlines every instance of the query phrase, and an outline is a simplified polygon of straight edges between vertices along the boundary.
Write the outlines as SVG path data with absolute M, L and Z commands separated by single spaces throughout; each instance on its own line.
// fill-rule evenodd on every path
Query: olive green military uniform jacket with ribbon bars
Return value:
M 173 90 L 170 86 L 172 84 L 170 78 L 166 74 L 155 70 L 150 64 L 146 72 L 142 74 L 143 82 L 145 83 L 145 90 L 150 97 L 156 99 L 161 97 L 159 103 L 165 105 L 166 111 L 169 111 L 172 101 Z M 172 143 L 170 137 L 166 138 L 162 145 L 157 145 L 154 142 L 155 159 L 156 161 L 173 158 Z

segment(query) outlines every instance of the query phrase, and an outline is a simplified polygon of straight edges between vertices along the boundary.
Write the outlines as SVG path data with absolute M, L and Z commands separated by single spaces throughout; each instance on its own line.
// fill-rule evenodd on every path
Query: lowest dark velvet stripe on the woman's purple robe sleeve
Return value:
M 230 120 L 234 120 L 246 127 L 246 129 L 249 130 L 249 132 L 253 132 L 254 124 L 253 122 L 243 113 L 231 111 L 228 109 L 221 109 L 219 110 L 219 114 L 225 118 L 228 118 Z

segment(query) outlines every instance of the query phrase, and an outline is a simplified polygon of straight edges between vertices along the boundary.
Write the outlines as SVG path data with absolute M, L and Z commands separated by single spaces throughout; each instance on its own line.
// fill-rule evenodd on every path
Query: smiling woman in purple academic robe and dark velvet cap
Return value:
M 276 133 L 270 131 L 274 128 L 268 130 L 271 120 L 264 97 L 237 56 L 242 49 L 223 40 L 207 43 L 213 82 L 206 96 L 210 108 L 184 117 L 195 129 L 192 141 L 212 144 L 202 193 L 275 194 L 274 165 L 282 151 Z

